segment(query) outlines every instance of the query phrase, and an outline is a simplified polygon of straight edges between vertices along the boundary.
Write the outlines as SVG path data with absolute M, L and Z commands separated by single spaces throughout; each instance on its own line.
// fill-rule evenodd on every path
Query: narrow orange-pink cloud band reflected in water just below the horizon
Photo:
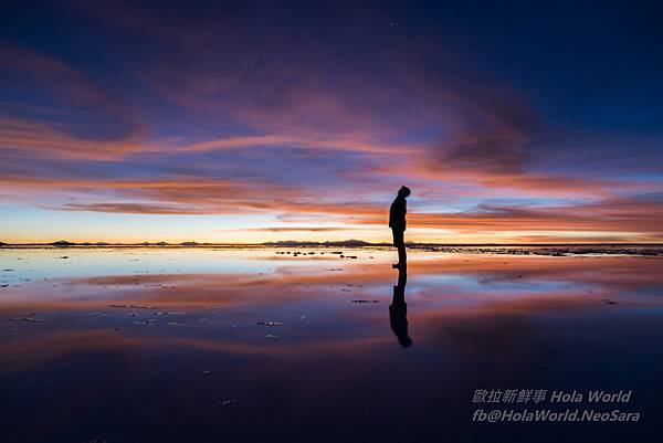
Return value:
M 60 281 L 57 288 L 45 286 L 30 287 L 27 289 L 14 289 L 17 296 L 6 295 L 2 308 L 10 313 L 13 305 L 34 303 L 41 304 L 49 309 L 55 309 L 60 304 L 66 309 L 74 309 L 80 305 L 81 309 L 91 309 L 98 305 L 106 306 L 114 299 L 122 304 L 150 304 L 168 305 L 175 309 L 189 305 L 200 306 L 253 306 L 270 300 L 295 302 L 301 298 L 318 294 L 324 297 L 329 291 L 337 293 L 339 287 L 346 287 L 351 283 L 352 292 L 371 293 L 376 287 L 382 287 L 385 282 L 393 277 L 392 270 L 382 261 L 351 261 L 344 262 L 343 272 L 332 272 L 328 267 L 335 267 L 338 259 L 329 256 L 328 265 L 304 264 L 305 261 L 317 261 L 319 256 L 305 257 L 301 261 L 287 263 L 286 266 L 276 267 L 266 274 L 140 274 L 140 275 L 108 275 L 93 277 L 75 277 Z M 270 259 L 275 263 L 280 256 Z M 544 299 L 545 293 L 566 303 L 567 297 L 559 288 L 548 287 L 550 283 L 573 283 L 578 285 L 580 293 L 592 287 L 600 288 L 602 294 L 615 292 L 629 292 L 638 288 L 652 286 L 660 281 L 660 264 L 657 260 L 643 257 L 601 256 L 601 257 L 551 257 L 551 256 L 501 256 L 485 254 L 469 255 L 443 255 L 439 259 L 428 257 L 417 260 L 412 257 L 410 274 L 420 281 L 430 276 L 443 278 L 435 287 L 421 287 L 422 297 L 435 298 L 435 288 L 440 285 L 452 284 L 444 289 L 464 294 L 463 297 L 475 296 L 473 299 L 481 305 L 488 306 L 491 299 L 483 298 L 483 292 L 491 288 L 502 291 L 499 283 L 515 284 L 522 287 L 515 298 L 527 294 L 527 291 L 538 294 L 537 299 Z M 466 286 L 456 282 L 454 277 L 466 277 L 473 282 L 484 282 L 481 293 L 475 293 L 476 286 Z M 452 278 L 444 278 L 452 277 Z M 462 281 L 461 281 L 462 282 Z M 544 282 L 540 287 L 522 286 L 527 283 Z M 581 285 L 581 286 L 580 286 Z M 410 292 L 412 289 L 410 288 Z M 56 293 L 61 292 L 61 293 Z M 541 293 L 543 292 L 543 293 Z M 49 294 L 59 294 L 54 297 L 56 302 L 51 303 Z M 75 294 L 70 299 L 69 294 Z M 19 296 L 20 295 L 20 296 Z M 568 296 L 573 293 L 567 292 Z M 103 297 L 103 298 L 99 298 Z M 514 297 L 508 297 L 508 299 Z M 550 297 L 549 297 L 550 298 Z M 95 302 L 96 300 L 96 302 Z M 548 300 L 547 303 L 552 303 Z M 512 307 L 517 305 L 512 305 Z M 525 304 L 527 306 L 527 304 Z

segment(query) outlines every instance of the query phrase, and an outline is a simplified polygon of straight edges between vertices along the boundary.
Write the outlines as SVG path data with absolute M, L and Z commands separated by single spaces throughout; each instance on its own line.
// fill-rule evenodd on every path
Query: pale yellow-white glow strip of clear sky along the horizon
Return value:
M 55 241 L 143 243 L 198 242 L 251 244 L 280 241 L 326 242 L 361 240 L 389 243 L 391 234 L 385 224 L 352 225 L 337 223 L 288 224 L 266 217 L 240 215 L 145 215 L 74 213 L 29 210 L 3 211 L 0 242 L 52 243 Z M 18 233 L 18 234 L 15 234 Z M 407 240 L 417 243 L 656 243 L 656 236 L 638 232 L 591 231 L 495 231 L 455 232 L 448 229 L 409 228 Z

